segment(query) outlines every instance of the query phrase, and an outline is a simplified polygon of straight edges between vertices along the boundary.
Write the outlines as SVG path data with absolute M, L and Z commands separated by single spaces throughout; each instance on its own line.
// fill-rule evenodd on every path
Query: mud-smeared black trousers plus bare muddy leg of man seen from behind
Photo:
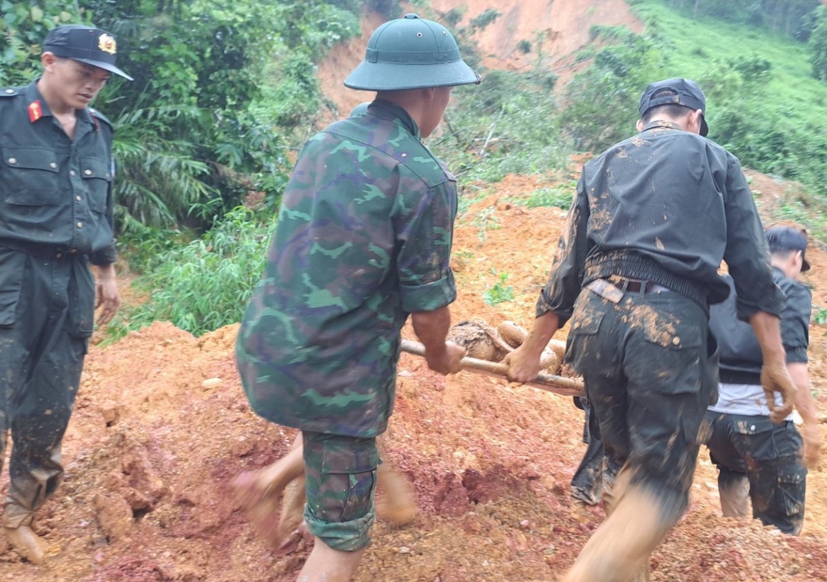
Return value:
M 566 359 L 583 375 L 603 442 L 607 517 L 563 582 L 648 580 L 649 554 L 686 510 L 717 387 L 708 323 L 671 291 L 626 291 L 617 302 L 581 292 Z

